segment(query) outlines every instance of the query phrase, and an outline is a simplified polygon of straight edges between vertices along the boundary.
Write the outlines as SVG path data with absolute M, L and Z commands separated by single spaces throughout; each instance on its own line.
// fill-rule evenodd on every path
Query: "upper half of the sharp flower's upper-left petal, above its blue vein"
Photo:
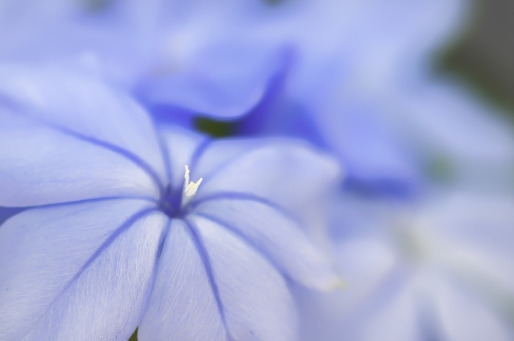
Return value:
M 166 179 L 149 115 L 126 94 L 70 69 L 0 68 L 0 99 L 34 121 L 130 156 L 154 177 Z

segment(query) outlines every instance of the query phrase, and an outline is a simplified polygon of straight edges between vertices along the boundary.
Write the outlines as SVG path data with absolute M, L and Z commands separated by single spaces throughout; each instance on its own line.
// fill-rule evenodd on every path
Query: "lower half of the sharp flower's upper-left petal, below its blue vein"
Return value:
M 124 154 L 19 113 L 0 108 L 1 205 L 158 198 L 152 178 Z

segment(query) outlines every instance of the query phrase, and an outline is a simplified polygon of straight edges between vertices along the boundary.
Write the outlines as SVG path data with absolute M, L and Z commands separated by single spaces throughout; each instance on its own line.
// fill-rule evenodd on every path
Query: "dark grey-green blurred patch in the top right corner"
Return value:
M 459 38 L 439 51 L 435 68 L 514 120 L 514 1 L 474 0 Z

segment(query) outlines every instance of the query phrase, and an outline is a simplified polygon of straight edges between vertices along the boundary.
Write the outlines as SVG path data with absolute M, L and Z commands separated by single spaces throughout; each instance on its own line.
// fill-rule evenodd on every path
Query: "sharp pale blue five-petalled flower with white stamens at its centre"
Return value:
M 28 207 L 0 227 L 0 339 L 291 340 L 287 281 L 338 285 L 293 217 L 331 159 L 156 129 L 70 70 L 0 79 L 0 205 Z

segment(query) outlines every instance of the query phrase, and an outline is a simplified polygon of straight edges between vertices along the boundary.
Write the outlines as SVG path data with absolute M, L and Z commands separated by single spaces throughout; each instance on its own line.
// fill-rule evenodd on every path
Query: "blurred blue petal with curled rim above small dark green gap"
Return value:
M 146 78 L 136 91 L 151 106 L 234 119 L 258 104 L 273 75 L 286 67 L 287 59 L 275 54 L 242 42 L 218 42 L 196 51 L 178 70 Z

